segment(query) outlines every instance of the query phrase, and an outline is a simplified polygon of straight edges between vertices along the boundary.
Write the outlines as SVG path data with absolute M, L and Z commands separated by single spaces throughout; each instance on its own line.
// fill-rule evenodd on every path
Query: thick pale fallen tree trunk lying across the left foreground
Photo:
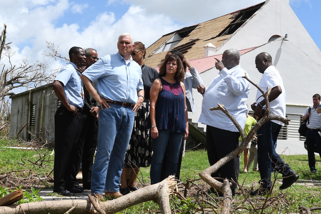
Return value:
M 174 176 L 169 176 L 160 183 L 146 186 L 142 189 L 131 192 L 120 198 L 111 201 L 100 201 L 99 207 L 106 213 L 115 213 L 145 201 L 155 201 L 160 205 L 163 214 L 170 214 L 169 195 L 177 188 Z M 78 204 L 78 205 L 77 205 Z M 77 206 L 76 206 L 77 205 Z M 88 214 L 94 213 L 94 207 L 87 200 L 61 200 L 61 201 L 40 201 L 0 207 L 0 213 L 5 214 L 62 214 L 74 207 L 73 213 Z

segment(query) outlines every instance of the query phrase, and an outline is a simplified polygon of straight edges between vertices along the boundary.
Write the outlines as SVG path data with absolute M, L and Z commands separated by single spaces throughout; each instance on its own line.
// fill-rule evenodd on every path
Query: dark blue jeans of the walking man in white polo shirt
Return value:
M 267 121 L 257 130 L 257 162 L 261 175 L 261 187 L 271 189 L 271 169 L 275 165 L 275 170 L 285 176 L 291 169 L 285 164 L 282 158 L 275 152 L 274 145 L 278 139 L 281 125 L 272 121 Z

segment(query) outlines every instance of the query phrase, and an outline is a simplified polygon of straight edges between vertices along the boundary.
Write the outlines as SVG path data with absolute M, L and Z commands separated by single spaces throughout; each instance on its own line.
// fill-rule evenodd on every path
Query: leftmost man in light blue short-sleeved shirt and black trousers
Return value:
M 86 63 L 80 47 L 69 50 L 70 63 L 56 76 L 52 87 L 61 105 L 55 113 L 54 192 L 72 196 L 83 191 L 76 179 L 76 148 L 82 126 L 83 87 L 79 68 Z

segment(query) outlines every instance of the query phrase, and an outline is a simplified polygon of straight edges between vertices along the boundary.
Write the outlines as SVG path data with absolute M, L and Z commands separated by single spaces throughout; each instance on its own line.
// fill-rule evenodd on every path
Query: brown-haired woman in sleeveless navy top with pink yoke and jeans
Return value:
M 166 176 L 177 171 L 182 139 L 188 138 L 184 68 L 177 55 L 170 55 L 160 65 L 160 78 L 150 91 L 152 135 L 151 184 L 160 182 L 160 171 L 167 149 Z

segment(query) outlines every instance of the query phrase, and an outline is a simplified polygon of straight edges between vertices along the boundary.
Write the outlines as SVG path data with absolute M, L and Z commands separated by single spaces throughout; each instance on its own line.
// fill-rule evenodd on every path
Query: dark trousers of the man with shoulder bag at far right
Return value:
M 316 157 L 314 154 L 314 144 L 317 144 L 317 149 L 319 151 L 319 156 L 321 158 L 321 138 L 317 131 L 311 131 L 310 129 L 307 129 L 306 136 L 307 136 L 306 138 L 307 138 L 309 167 L 311 171 L 315 171 Z

